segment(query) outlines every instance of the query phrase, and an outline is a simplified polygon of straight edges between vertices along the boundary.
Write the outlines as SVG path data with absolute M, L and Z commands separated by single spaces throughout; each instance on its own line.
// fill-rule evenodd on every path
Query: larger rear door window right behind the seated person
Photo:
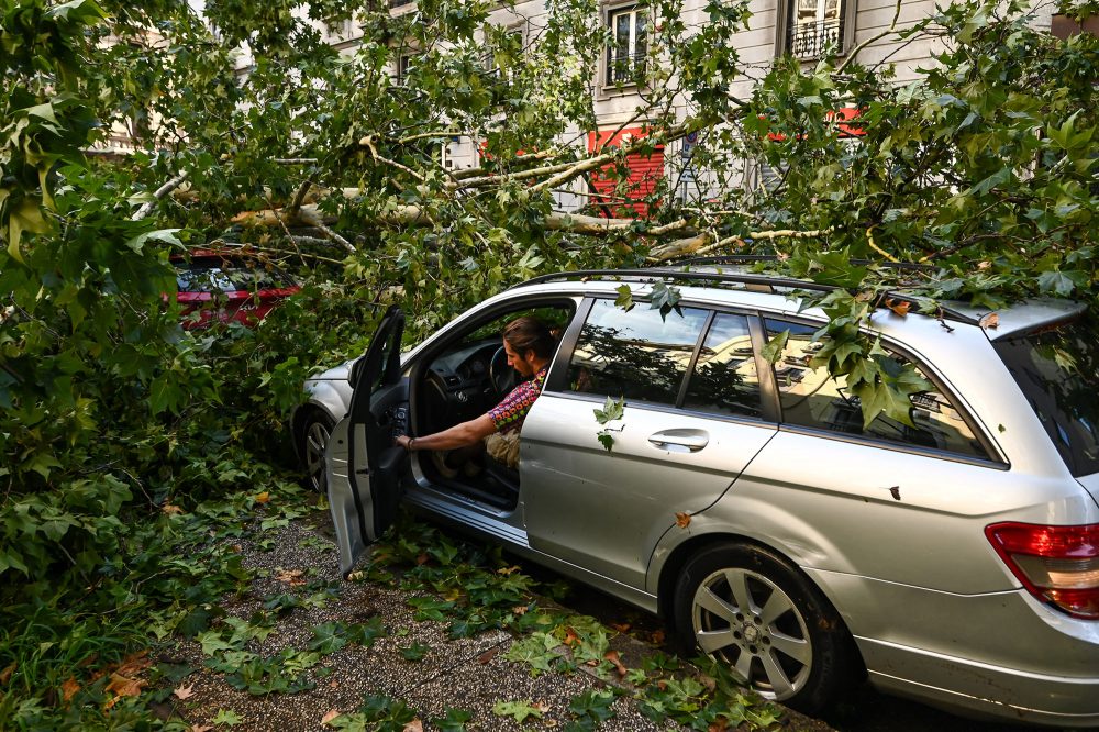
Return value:
M 597 300 L 569 363 L 573 391 L 675 404 L 708 311 L 678 308 L 662 317 Z

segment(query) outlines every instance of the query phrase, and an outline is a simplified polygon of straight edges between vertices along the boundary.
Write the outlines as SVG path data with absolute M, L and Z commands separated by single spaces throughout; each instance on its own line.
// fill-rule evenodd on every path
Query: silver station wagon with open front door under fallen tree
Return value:
M 662 315 L 645 300 L 667 285 L 681 299 Z M 967 716 L 1099 724 L 1099 343 L 1084 307 L 1024 302 L 995 328 L 972 309 L 876 312 L 888 357 L 932 388 L 910 424 L 864 426 L 844 378 L 810 365 L 824 315 L 796 292 L 812 288 L 698 265 L 570 273 L 407 354 L 390 311 L 295 415 L 341 569 L 403 502 L 659 613 L 804 711 L 865 676 Z M 510 391 L 500 333 L 520 314 L 559 343 L 518 470 L 467 477 L 395 446 Z M 625 407 L 600 422 L 608 397 Z

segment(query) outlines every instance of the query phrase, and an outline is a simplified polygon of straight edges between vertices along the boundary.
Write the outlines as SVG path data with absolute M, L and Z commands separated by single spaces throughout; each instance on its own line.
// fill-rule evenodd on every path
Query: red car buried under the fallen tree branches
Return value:
M 192 249 L 173 257 L 173 264 L 187 329 L 203 328 L 212 319 L 252 325 L 301 289 L 286 273 L 244 252 Z

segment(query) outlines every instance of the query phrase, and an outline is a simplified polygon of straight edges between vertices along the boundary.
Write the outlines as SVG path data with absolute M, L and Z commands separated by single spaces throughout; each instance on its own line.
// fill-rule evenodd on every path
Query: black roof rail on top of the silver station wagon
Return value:
M 725 259 L 725 257 L 707 257 L 712 259 Z M 715 263 L 711 262 L 699 262 L 695 260 L 693 264 L 707 264 L 713 266 Z M 726 264 L 747 264 L 746 262 L 728 262 Z M 554 273 L 550 275 L 540 275 L 533 277 L 524 282 L 514 285 L 513 287 L 524 287 L 528 285 L 541 285 L 543 282 L 560 282 L 568 281 L 570 279 L 580 280 L 604 280 L 604 281 L 657 281 L 657 280 L 673 280 L 673 281 L 684 281 L 684 282 L 729 282 L 735 285 L 744 285 L 746 289 L 756 291 L 774 291 L 775 288 L 786 288 L 790 290 L 813 290 L 817 292 L 832 292 L 833 290 L 840 289 L 835 285 L 822 285 L 820 282 L 813 282 L 811 280 L 797 279 L 793 277 L 779 277 L 776 275 L 757 275 L 751 273 L 724 273 L 724 271 L 691 271 L 691 270 L 679 270 L 674 267 L 685 266 L 682 262 L 677 262 L 669 265 L 660 265 L 659 267 L 645 267 L 635 269 L 577 269 L 574 271 L 563 271 Z M 915 297 L 912 295 L 904 295 L 901 292 L 885 292 L 880 299 L 892 299 L 900 302 L 908 302 L 912 306 L 921 306 L 926 302 L 926 299 Z M 966 323 L 969 325 L 978 324 L 978 320 L 968 315 L 966 313 L 959 312 L 957 310 L 947 308 L 945 306 L 939 306 L 937 317 L 945 320 L 953 320 L 959 323 Z

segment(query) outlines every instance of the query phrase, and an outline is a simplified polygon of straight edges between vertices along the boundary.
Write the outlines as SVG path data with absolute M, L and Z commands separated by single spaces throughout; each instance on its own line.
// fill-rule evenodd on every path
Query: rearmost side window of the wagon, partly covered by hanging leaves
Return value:
M 810 365 L 813 355 L 824 345 L 823 341 L 813 337 L 817 326 L 767 319 L 766 330 L 768 340 L 789 331 L 786 347 L 774 366 L 782 422 L 972 457 L 988 457 L 954 402 L 935 388 L 911 396 L 911 425 L 879 414 L 864 429 L 858 397 L 847 391 L 846 377 L 832 377 L 826 366 Z M 899 353 L 890 351 L 890 355 L 898 363 L 909 363 Z M 919 365 L 917 371 L 933 384 Z

